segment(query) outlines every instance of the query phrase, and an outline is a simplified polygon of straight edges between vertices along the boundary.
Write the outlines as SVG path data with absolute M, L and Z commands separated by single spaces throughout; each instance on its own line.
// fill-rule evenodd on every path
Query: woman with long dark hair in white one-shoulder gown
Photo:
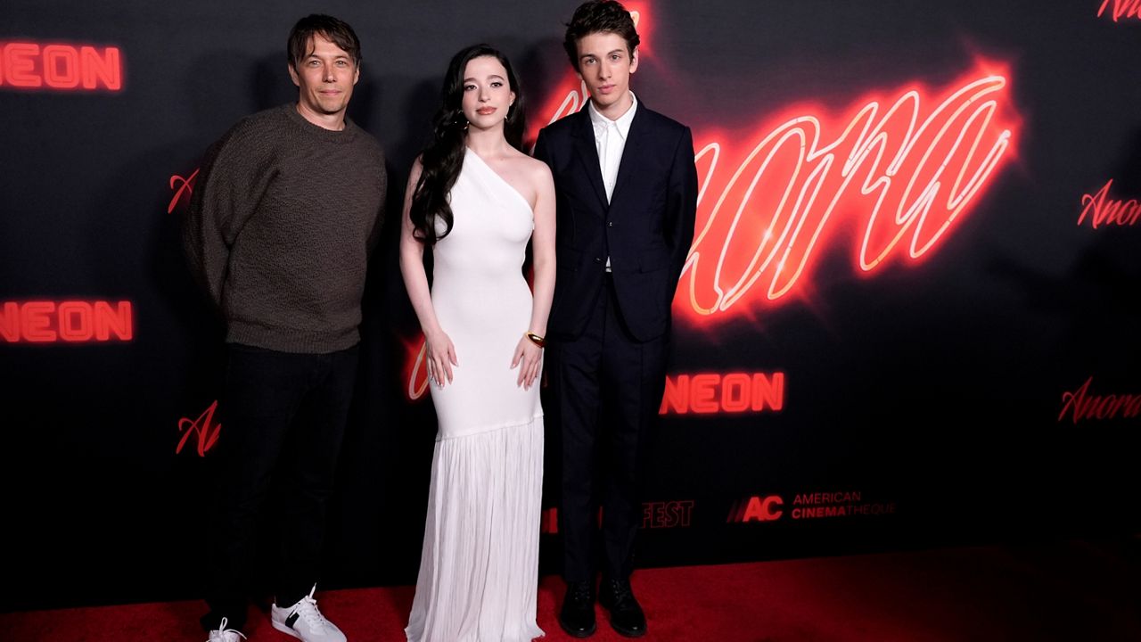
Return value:
M 501 53 L 477 45 L 456 54 L 442 97 L 400 232 L 439 420 L 405 633 L 411 642 L 524 642 L 543 635 L 537 384 L 555 292 L 555 185 L 519 150 L 523 96 Z M 528 240 L 534 294 L 523 274 Z

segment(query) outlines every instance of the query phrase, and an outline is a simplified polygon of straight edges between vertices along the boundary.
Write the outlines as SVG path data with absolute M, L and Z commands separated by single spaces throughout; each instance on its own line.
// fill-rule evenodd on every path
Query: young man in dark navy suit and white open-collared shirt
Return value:
M 559 624 L 576 637 L 597 628 L 599 567 L 599 601 L 610 625 L 631 637 L 646 633 L 630 587 L 641 524 L 639 476 L 662 402 L 670 306 L 697 208 L 689 128 L 630 91 L 638 43 L 633 19 L 618 2 L 580 6 L 564 46 L 590 102 L 544 128 L 535 144 L 557 192 L 548 411 L 563 446 L 559 532 L 567 594 Z

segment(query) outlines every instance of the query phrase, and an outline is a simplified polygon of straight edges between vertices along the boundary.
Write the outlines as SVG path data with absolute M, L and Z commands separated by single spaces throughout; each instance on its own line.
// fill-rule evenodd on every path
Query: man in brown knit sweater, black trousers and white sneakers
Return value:
M 377 139 L 345 117 L 361 77 L 353 29 L 308 16 L 288 54 L 298 102 L 242 120 L 210 149 L 183 222 L 228 351 L 207 523 L 209 642 L 240 640 L 270 481 L 282 499 L 272 624 L 305 642 L 345 641 L 313 592 L 387 179 Z

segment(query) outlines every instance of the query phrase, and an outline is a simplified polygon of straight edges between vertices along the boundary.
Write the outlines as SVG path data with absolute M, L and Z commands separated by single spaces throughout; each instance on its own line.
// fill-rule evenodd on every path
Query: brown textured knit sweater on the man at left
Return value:
M 349 120 L 330 131 L 289 104 L 222 136 L 195 182 L 183 246 L 226 340 L 296 353 L 355 345 L 386 186 L 380 145 Z

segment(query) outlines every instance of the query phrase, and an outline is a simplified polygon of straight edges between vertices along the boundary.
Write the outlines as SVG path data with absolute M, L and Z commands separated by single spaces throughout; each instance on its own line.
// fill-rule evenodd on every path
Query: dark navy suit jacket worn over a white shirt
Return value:
M 697 169 L 689 128 L 639 99 L 610 202 L 586 109 L 539 133 L 535 158 L 555 176 L 555 300 L 549 336 L 574 339 L 586 326 L 610 258 L 618 308 L 640 342 L 670 329 L 670 306 L 694 240 Z

